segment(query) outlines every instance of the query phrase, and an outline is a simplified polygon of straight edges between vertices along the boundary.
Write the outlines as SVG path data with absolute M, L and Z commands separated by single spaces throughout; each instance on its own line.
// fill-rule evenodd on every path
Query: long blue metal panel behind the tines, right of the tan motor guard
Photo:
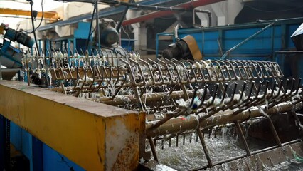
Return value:
M 302 24 L 302 21 L 303 18 L 275 21 L 274 26 L 267 28 L 258 36 L 255 36 L 255 38 L 244 43 L 230 54 L 233 56 L 232 58 L 237 57 L 235 54 L 247 54 L 251 57 L 248 59 L 257 59 L 255 56 L 261 55 L 258 57 L 270 60 L 266 56 L 273 56 L 275 51 L 294 49 L 294 44 L 292 43 L 290 36 L 299 25 Z M 220 42 L 222 51 L 225 53 L 225 51 L 228 51 L 241 41 L 244 41 L 257 31 L 260 31 L 267 26 L 267 24 L 270 24 L 270 22 L 236 24 L 232 26 L 217 26 L 211 28 L 182 28 L 179 30 L 179 37 L 191 35 L 196 38 L 198 47 L 206 58 L 213 58 L 214 56 L 220 57 L 222 55 L 220 54 L 218 42 Z M 166 34 L 170 33 L 158 33 L 158 36 Z M 157 42 L 157 44 L 159 45 L 160 43 Z M 160 48 L 158 50 L 162 49 Z M 241 58 L 244 59 L 243 57 Z M 277 58 L 277 61 L 279 60 L 280 59 Z

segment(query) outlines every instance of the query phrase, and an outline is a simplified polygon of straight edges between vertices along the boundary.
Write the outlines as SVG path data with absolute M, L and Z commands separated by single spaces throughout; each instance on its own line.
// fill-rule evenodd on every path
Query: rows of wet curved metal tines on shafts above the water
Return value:
M 196 46 L 192 40 L 188 46 Z M 43 63 L 51 65 L 45 68 Z M 60 51 L 47 58 L 25 55 L 23 70 L 43 72 L 50 78 L 49 88 L 41 92 L 63 93 L 73 98 L 112 105 L 117 110 L 122 108 L 141 113 L 141 118 L 137 118 L 141 120 L 141 125 L 136 128 L 139 131 L 138 144 L 131 143 L 134 146 L 130 148 L 135 149 L 128 150 L 139 152 L 139 156 L 134 158 L 136 161 L 138 157 L 142 158 L 142 165 L 150 160 L 161 163 L 159 151 L 164 146 L 178 147 L 181 141 L 183 145 L 201 142 L 201 147 L 196 148 L 203 149 L 205 158 L 202 160 L 206 163 L 202 162 L 204 166 L 200 165 L 198 169 L 263 154 L 272 149 L 276 151 L 289 147 L 287 149 L 293 152 L 292 147 L 287 145 L 300 147 L 296 144 L 300 142 L 298 136 L 280 138 L 280 128 L 277 128 L 276 119 L 273 121 L 272 118 L 285 118 L 282 113 L 287 113 L 292 120 L 289 122 L 294 125 L 291 128 L 294 134 L 301 133 L 301 117 L 296 113 L 303 106 L 301 78 L 283 80 L 283 73 L 275 62 L 174 58 L 153 61 L 142 60 L 139 53 L 102 48 L 101 54 L 92 56 L 88 53 L 85 56 L 65 56 Z M 250 150 L 245 135 L 256 131 L 249 130 L 247 123 L 251 127 L 261 123 L 267 125 L 265 129 L 270 130 L 270 135 L 263 138 L 274 140 L 272 147 Z M 213 132 L 223 128 L 238 135 L 244 153 L 220 161 L 213 160 L 213 154 L 204 140 L 205 134 L 211 137 Z M 111 125 L 110 129 L 124 128 Z M 129 143 L 129 139 L 125 140 Z M 120 149 L 112 147 L 113 150 L 116 148 Z M 133 157 L 136 152 L 132 152 L 124 153 L 122 158 Z M 119 165 L 124 164 L 121 162 Z

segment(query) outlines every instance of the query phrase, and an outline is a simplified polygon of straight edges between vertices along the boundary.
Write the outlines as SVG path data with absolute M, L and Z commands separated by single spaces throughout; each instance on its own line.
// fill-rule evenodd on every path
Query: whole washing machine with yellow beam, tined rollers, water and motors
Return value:
M 0 166 L 10 165 L 11 123 L 33 136 L 28 156 L 40 161 L 36 170 L 51 166 L 51 157 L 41 158 L 53 151 L 70 170 L 67 160 L 79 170 L 266 170 L 302 162 L 301 78 L 284 78 L 274 61 L 203 59 L 193 36 L 171 44 L 164 58 L 142 59 L 119 46 L 111 20 L 97 17 L 97 29 L 92 50 L 24 53 L 27 86 L 0 81 Z M 12 33 L 6 38 L 33 46 Z

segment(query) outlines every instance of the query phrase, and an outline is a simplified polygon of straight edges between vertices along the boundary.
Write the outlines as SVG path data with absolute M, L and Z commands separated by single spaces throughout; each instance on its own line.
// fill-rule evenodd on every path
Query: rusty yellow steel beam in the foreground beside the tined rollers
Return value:
M 138 113 L 0 81 L 0 113 L 85 170 L 134 170 Z

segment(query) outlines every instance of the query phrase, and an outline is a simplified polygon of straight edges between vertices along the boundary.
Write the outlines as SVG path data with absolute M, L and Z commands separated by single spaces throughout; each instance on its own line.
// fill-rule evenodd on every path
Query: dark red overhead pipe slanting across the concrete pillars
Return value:
M 175 7 L 180 7 L 180 8 L 186 9 L 186 10 L 190 10 L 190 9 L 194 9 L 198 6 L 205 6 L 205 5 L 213 4 L 213 3 L 216 3 L 216 2 L 220 2 L 220 1 L 225 1 L 225 0 L 189 1 L 189 2 L 186 2 L 184 4 L 179 4 L 179 5 L 171 6 L 171 7 L 174 7 L 174 8 Z M 129 24 L 134 24 L 134 23 L 139 23 L 139 22 L 142 22 L 142 21 L 147 21 L 147 20 L 158 18 L 158 17 L 161 17 L 161 16 L 168 16 L 168 15 L 174 14 L 174 12 L 175 11 L 154 11 L 154 12 L 151 12 L 149 14 L 145 14 L 145 15 L 133 18 L 133 19 L 126 20 L 122 23 L 122 25 L 127 26 Z

